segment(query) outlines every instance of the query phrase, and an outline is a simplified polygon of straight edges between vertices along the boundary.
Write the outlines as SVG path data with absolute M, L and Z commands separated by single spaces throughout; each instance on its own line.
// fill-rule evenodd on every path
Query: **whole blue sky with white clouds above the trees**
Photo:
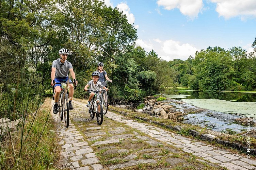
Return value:
M 207 47 L 248 52 L 256 37 L 255 0 L 105 0 L 137 29 L 137 45 L 166 61 Z

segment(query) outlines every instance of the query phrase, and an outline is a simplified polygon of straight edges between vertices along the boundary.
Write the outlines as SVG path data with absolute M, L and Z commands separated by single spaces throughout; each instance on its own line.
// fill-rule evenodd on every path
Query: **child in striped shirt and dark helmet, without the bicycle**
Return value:
M 92 79 L 93 79 L 93 80 L 90 80 L 90 81 L 85 85 L 85 87 L 84 87 L 84 90 L 85 90 L 85 91 L 88 90 L 88 89 L 87 89 L 88 86 L 90 86 L 89 90 L 94 90 L 94 91 L 99 91 L 100 88 L 103 88 L 103 89 L 105 89 L 106 91 L 109 90 L 107 87 L 103 86 L 103 85 L 98 81 L 98 79 L 99 79 L 99 72 L 94 71 L 94 72 L 92 73 Z M 91 106 L 91 100 L 92 100 L 92 98 L 93 98 L 94 95 L 95 95 L 94 92 L 91 92 L 91 93 L 90 93 L 90 97 L 89 97 L 89 99 L 88 99 L 88 104 L 87 104 L 87 106 Z

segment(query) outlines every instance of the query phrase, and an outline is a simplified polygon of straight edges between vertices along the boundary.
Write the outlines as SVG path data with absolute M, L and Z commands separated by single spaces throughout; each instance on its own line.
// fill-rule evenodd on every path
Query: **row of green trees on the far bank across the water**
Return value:
M 225 50 L 208 47 L 197 51 L 195 58 L 170 61 L 178 72 L 177 83 L 200 91 L 254 91 L 256 90 L 256 39 L 254 52 L 241 47 Z

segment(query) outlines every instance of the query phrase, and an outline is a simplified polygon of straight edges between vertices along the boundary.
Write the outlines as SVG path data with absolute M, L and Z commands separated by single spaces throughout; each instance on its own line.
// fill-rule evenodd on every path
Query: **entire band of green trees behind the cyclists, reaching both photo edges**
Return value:
M 21 99 L 45 95 L 50 89 L 51 63 L 61 48 L 70 50 L 78 88 L 103 62 L 111 103 L 135 102 L 166 89 L 233 91 L 256 89 L 256 50 L 209 47 L 195 58 L 165 61 L 154 50 L 135 45 L 137 30 L 117 8 L 98 0 L 1 1 L 1 111 L 19 112 Z M 253 47 L 256 47 L 256 40 Z M 173 56 L 175 58 L 175 56 Z M 13 97 L 7 94 L 12 94 Z M 12 107 L 7 108 L 6 103 Z M 24 109 L 24 108 L 23 108 Z

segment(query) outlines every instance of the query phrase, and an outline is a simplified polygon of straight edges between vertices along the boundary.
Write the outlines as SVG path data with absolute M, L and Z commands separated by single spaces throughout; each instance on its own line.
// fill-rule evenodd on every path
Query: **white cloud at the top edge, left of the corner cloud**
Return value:
M 197 17 L 200 10 L 203 8 L 202 0 L 158 0 L 159 6 L 164 6 L 165 10 L 178 8 L 179 11 L 191 19 Z

